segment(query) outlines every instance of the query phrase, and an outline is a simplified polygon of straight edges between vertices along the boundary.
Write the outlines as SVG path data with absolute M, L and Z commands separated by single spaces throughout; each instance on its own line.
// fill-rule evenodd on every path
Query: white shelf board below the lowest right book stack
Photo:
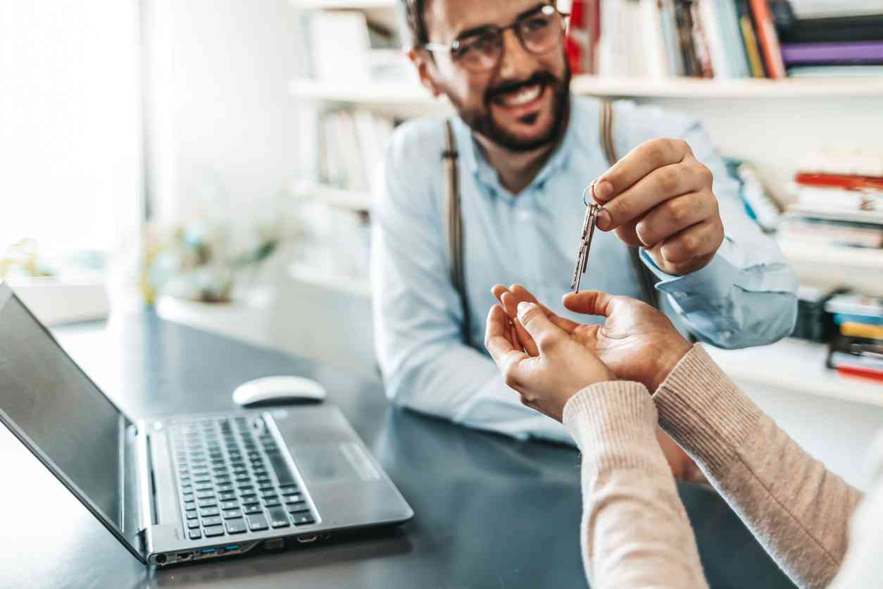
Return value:
M 742 386 L 785 389 L 883 407 L 883 383 L 841 376 L 825 367 L 827 346 L 798 339 L 746 350 L 705 346 L 725 373 Z

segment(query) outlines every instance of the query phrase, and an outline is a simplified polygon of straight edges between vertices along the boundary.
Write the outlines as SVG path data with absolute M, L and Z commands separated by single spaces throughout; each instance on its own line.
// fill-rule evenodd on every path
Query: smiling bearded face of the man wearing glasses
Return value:
M 538 0 L 427 0 L 430 43 L 450 46 L 488 26 L 509 26 L 548 3 Z M 529 16 L 527 17 L 529 18 Z M 512 151 L 555 141 L 567 114 L 570 68 L 560 41 L 543 53 L 525 49 L 514 30 L 503 32 L 502 56 L 487 71 L 470 71 L 436 52 L 421 69 L 425 81 L 447 94 L 474 132 Z

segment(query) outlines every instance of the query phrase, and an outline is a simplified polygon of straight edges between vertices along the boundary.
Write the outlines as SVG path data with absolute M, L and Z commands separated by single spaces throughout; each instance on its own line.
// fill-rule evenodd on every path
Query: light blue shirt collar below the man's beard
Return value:
M 570 118 L 567 121 L 567 129 L 564 131 L 564 138 L 552 156 L 543 164 L 540 173 L 533 178 L 530 185 L 527 185 L 523 193 L 529 193 L 537 185 L 544 184 L 548 177 L 558 170 L 566 170 L 570 163 L 570 154 L 573 153 L 574 144 L 576 143 L 577 130 L 580 125 L 584 125 L 584 113 L 580 108 L 580 102 L 576 96 L 570 94 Z M 487 162 L 482 153 L 478 142 L 472 137 L 472 129 L 466 125 L 460 117 L 455 117 L 454 135 L 457 139 L 457 149 L 461 165 L 464 170 L 470 173 L 484 185 L 489 192 L 509 194 L 500 184 L 500 177 L 497 171 Z

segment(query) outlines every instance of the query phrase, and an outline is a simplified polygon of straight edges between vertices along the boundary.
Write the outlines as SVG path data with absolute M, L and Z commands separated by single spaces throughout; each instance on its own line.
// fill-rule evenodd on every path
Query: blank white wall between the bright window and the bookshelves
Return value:
M 155 218 L 185 218 L 218 196 L 226 215 L 247 217 L 298 160 L 286 91 L 302 71 L 291 4 L 145 0 L 144 18 Z

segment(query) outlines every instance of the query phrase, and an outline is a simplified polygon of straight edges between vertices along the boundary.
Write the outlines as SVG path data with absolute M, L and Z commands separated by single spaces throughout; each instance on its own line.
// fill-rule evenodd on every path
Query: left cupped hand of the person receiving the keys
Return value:
M 517 306 L 517 318 L 531 337 L 537 355 L 522 350 L 509 317 L 499 305 L 487 314 L 485 346 L 506 384 L 517 390 L 523 404 L 561 421 L 571 396 L 613 378 L 597 356 L 549 321 L 540 306 L 522 302 Z

